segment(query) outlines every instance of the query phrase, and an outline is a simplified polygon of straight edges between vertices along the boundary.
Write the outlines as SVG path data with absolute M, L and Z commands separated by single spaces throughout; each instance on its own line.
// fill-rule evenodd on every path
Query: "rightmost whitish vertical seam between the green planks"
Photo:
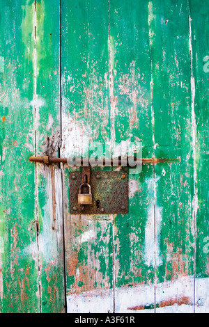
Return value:
M 196 303 L 196 212 L 198 208 L 198 197 L 197 197 L 197 172 L 196 172 L 196 116 L 194 112 L 194 99 L 195 99 L 195 79 L 193 74 L 193 50 L 192 50 L 192 25 L 191 25 L 191 13 L 189 8 L 189 55 L 190 55 L 190 66 L 191 66 L 191 95 L 192 95 L 192 111 L 191 111 L 191 120 L 192 120 L 192 156 L 193 156 L 193 171 L 194 171 L 194 196 L 192 199 L 192 217 L 194 224 L 194 313 L 195 313 L 195 303 Z

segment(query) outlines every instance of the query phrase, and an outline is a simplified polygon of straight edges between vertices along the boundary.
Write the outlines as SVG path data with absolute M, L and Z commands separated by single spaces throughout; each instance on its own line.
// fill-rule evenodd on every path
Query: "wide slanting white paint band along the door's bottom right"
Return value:
M 134 287 L 118 287 L 115 289 L 115 312 L 151 313 L 155 311 L 153 309 L 155 304 L 156 312 L 159 313 L 194 312 L 193 283 L 193 277 L 187 276 L 159 283 L 155 287 L 144 284 Z M 196 278 L 195 312 L 208 312 L 209 310 L 208 285 L 209 278 Z M 103 292 L 96 289 L 82 294 L 72 294 L 67 296 L 68 313 L 112 312 L 113 297 L 112 289 Z M 189 304 L 179 304 L 178 301 L 180 302 L 183 298 L 188 298 Z M 169 301 L 173 301 L 174 304 L 168 305 Z M 159 306 L 162 308 L 157 308 Z M 151 309 L 146 309 L 146 307 Z

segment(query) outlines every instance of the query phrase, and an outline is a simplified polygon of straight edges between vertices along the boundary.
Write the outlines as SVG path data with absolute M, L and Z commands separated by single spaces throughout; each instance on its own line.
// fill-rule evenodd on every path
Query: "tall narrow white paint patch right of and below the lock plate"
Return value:
M 148 219 L 145 228 L 144 261 L 147 266 L 160 266 L 160 230 L 162 223 L 162 208 L 151 205 L 148 209 Z

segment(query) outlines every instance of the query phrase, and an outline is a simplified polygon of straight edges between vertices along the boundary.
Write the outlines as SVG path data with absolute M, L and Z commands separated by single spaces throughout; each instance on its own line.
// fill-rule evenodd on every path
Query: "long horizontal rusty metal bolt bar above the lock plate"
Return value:
M 103 159 L 103 165 L 105 166 L 107 164 L 107 166 L 121 166 L 121 164 L 124 165 L 126 160 L 126 166 L 127 167 L 134 167 L 134 166 L 139 166 L 141 164 L 145 164 L 145 163 L 150 163 L 150 164 L 155 164 L 155 163 L 163 163 L 163 162 L 175 162 L 175 161 L 180 161 L 180 159 L 166 159 L 166 158 L 143 158 L 143 159 L 137 159 L 137 160 L 132 160 L 131 164 L 129 162 L 129 159 L 110 159 L 108 160 L 108 164 L 107 164 L 107 160 Z M 57 158 L 57 157 L 49 157 L 49 156 L 44 156 L 44 157 L 30 157 L 29 161 L 32 162 L 39 162 L 39 163 L 46 163 L 46 164 L 50 164 L 50 163 L 68 163 L 68 159 L 67 158 Z M 84 163 L 84 159 L 79 159 L 80 161 L 80 166 L 83 166 Z M 101 163 L 101 160 L 99 161 Z M 76 163 L 76 161 L 75 161 Z M 135 164 L 134 164 L 135 163 Z M 89 161 L 88 161 L 89 164 Z M 85 159 L 85 165 L 86 165 L 86 159 Z M 76 166 L 76 164 L 75 164 Z

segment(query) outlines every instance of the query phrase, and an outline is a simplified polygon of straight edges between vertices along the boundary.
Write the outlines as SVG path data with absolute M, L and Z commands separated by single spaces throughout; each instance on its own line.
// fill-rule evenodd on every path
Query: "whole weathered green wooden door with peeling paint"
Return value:
M 1 1 L 0 312 L 208 311 L 208 5 Z M 70 214 L 75 168 L 29 161 L 129 143 L 167 162 L 128 214 Z

